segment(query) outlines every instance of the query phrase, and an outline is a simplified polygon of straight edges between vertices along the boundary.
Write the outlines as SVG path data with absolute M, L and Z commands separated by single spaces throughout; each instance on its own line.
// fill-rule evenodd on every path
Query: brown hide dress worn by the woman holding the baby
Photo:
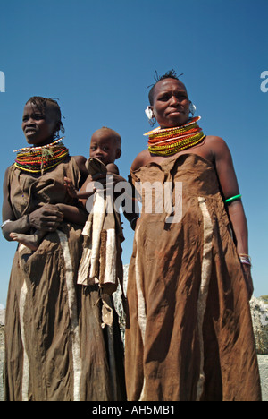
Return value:
M 64 176 L 78 187 L 80 172 L 73 158 L 38 178 L 10 167 L 15 217 L 45 203 L 75 205 Z M 65 221 L 46 234 L 36 252 L 19 244 L 6 304 L 6 400 L 124 398 L 120 331 L 115 322 L 109 331 L 102 329 L 98 287 L 77 285 L 81 252 L 81 227 Z M 107 346 L 111 341 L 113 346 Z

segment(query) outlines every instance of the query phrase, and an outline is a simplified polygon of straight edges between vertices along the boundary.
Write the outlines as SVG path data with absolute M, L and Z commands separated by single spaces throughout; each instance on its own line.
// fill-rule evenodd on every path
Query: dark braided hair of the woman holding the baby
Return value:
M 47 115 L 47 112 L 52 112 L 55 119 L 54 138 L 59 137 L 59 132 L 65 133 L 62 122 L 62 111 L 58 102 L 53 98 L 43 98 L 42 96 L 33 96 L 26 102 L 35 105 L 38 110 L 43 114 Z

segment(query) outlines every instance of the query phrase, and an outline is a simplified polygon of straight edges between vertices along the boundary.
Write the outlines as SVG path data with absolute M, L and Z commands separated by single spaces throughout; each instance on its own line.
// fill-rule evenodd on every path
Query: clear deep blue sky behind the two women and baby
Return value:
M 268 294 L 267 0 L 0 0 L 0 182 L 26 146 L 21 115 L 31 96 L 58 98 L 64 144 L 88 158 L 92 133 L 121 134 L 127 177 L 150 126 L 144 109 L 155 70 L 174 69 L 206 134 L 229 145 L 247 214 L 255 296 Z M 268 86 L 268 83 L 267 83 Z M 156 125 L 155 125 L 156 126 Z M 1 192 L 0 199 L 2 201 Z M 133 233 L 123 219 L 123 263 Z M 16 244 L 0 237 L 0 304 Z

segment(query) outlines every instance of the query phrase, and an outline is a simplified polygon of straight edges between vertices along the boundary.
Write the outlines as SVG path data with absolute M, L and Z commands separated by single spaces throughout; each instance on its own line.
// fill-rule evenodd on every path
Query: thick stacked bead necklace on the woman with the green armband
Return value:
M 148 150 L 159 156 L 170 156 L 181 150 L 188 149 L 204 140 L 205 135 L 197 125 L 201 116 L 192 118 L 188 124 L 174 128 L 155 128 L 144 135 L 148 135 Z

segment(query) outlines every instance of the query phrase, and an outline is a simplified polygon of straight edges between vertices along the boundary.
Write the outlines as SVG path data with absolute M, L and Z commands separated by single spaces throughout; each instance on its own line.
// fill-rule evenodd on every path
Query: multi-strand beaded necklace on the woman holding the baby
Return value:
M 24 147 L 17 152 L 14 166 L 30 173 L 41 173 L 58 166 L 69 156 L 69 150 L 63 145 L 63 137 L 42 147 Z

